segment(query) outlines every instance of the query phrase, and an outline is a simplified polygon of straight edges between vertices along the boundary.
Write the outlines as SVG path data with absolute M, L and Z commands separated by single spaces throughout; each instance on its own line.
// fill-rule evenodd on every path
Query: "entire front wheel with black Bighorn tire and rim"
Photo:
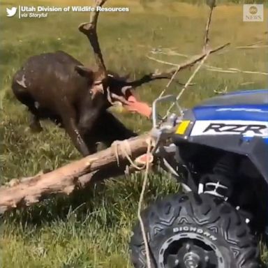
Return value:
M 228 202 L 211 195 L 170 195 L 142 213 L 151 268 L 258 268 L 257 238 Z M 131 237 L 135 268 L 147 267 L 140 223 Z

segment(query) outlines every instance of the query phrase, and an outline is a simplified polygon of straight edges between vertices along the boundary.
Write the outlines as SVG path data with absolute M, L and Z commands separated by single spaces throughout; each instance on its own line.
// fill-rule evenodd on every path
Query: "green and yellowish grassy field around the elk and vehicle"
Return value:
M 142 75 L 156 68 L 168 68 L 146 56 L 179 63 L 185 58 L 177 54 L 201 51 L 208 8 L 178 1 L 111 1 L 129 6 L 129 13 L 102 13 L 99 38 L 107 66 L 120 73 Z M 114 3 L 115 2 L 115 3 Z M 53 1 L 54 6 L 57 1 Z M 59 1 L 59 5 L 84 5 L 89 1 Z M 165 3 L 165 4 L 164 4 Z M 57 168 L 80 158 L 65 133 L 43 122 L 45 131 L 33 135 L 28 128 L 27 110 L 15 101 L 10 91 L 10 79 L 27 57 L 40 52 L 64 50 L 92 64 L 87 39 L 77 31 L 77 25 L 89 18 L 88 13 L 50 13 L 46 19 L 8 18 L 6 7 L 16 6 L 15 0 L 1 1 L 0 46 L 0 109 L 1 109 L 1 174 L 0 184 L 14 177 L 36 174 L 45 168 Z M 31 6 L 34 1 L 20 1 Z M 38 1 L 38 5 L 52 5 Z M 36 6 L 36 1 L 34 6 Z M 267 18 L 267 9 L 265 10 Z M 267 70 L 267 48 L 238 49 L 267 39 L 265 22 L 243 22 L 242 6 L 216 8 L 211 26 L 211 45 L 231 42 L 224 52 L 212 55 L 207 64 L 241 70 Z M 161 48 L 162 54 L 150 54 Z M 170 54 L 170 51 L 177 52 Z M 190 72 L 179 74 L 186 82 Z M 196 85 L 181 98 L 185 107 L 215 95 L 215 90 L 267 88 L 267 76 L 246 73 L 216 73 L 203 68 L 195 77 Z M 140 89 L 140 95 L 150 103 L 162 91 L 166 82 L 154 82 Z M 168 94 L 179 93 L 172 84 Z M 164 109 L 164 107 L 163 107 Z M 151 122 L 137 115 L 118 116 L 138 133 L 149 130 Z M 131 267 L 128 241 L 136 220 L 137 201 L 142 177 L 122 177 L 73 196 L 37 204 L 31 209 L 9 214 L 2 219 L 0 237 L 0 267 Z M 168 175 L 151 176 L 145 203 L 157 196 L 175 193 L 179 186 Z M 268 265 L 268 254 L 263 260 Z

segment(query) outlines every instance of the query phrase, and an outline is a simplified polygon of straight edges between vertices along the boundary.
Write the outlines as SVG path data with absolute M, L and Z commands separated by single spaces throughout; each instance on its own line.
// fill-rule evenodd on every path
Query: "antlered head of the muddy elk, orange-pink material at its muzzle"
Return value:
M 80 75 L 94 77 L 91 83 L 91 91 L 93 92 L 92 98 L 98 98 L 98 100 L 101 98 L 103 107 L 107 108 L 120 103 L 130 112 L 138 112 L 146 117 L 150 117 L 151 107 L 147 103 L 138 101 L 135 89 L 152 80 L 170 78 L 172 72 L 165 74 L 150 73 L 138 80 L 128 81 L 128 77 L 117 75 L 106 69 L 96 31 L 99 15 L 97 7 L 103 6 L 106 1 L 107 0 L 95 0 L 95 8 L 91 13 L 90 22 L 82 23 L 79 26 L 79 30 L 87 36 L 94 50 L 98 70 L 93 71 L 91 68 L 85 66 L 76 66 L 75 69 Z

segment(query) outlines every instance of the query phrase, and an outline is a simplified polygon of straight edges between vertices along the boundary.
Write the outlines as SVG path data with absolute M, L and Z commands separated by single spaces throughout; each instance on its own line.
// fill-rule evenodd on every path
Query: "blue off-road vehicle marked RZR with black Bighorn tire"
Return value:
M 156 136 L 172 139 L 156 154 L 184 193 L 143 211 L 149 260 L 137 223 L 134 267 L 260 267 L 259 241 L 268 230 L 268 89 L 216 96 L 161 126 L 154 117 L 154 126 Z

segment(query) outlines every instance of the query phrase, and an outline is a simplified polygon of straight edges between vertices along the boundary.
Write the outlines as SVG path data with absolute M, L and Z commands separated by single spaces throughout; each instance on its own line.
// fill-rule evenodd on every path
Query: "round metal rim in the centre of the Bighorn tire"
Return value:
M 213 241 L 195 233 L 174 234 L 158 255 L 161 268 L 225 268 L 223 255 Z

